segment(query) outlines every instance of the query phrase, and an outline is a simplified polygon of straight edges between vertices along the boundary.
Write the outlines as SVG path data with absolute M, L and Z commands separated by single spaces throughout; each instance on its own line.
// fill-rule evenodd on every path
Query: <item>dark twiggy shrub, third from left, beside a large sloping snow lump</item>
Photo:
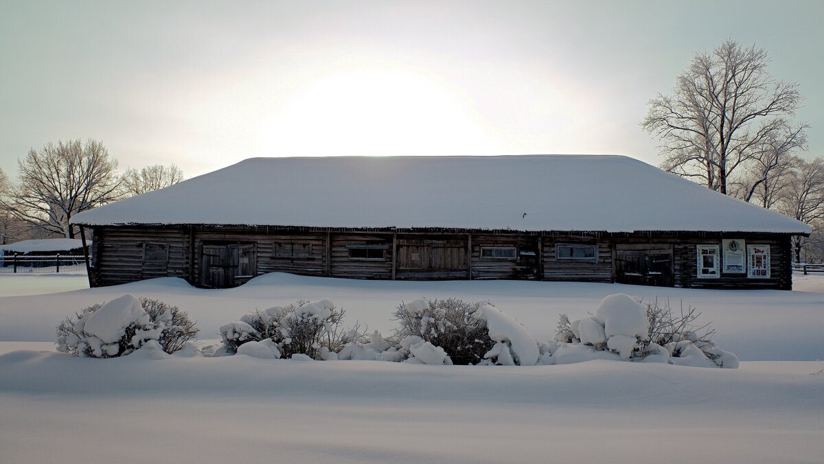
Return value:
M 401 302 L 393 313 L 400 324 L 396 338 L 420 337 L 441 347 L 455 364 L 480 363 L 495 342 L 489 338 L 486 321 L 477 317 L 479 308 L 480 302 L 456 298 Z

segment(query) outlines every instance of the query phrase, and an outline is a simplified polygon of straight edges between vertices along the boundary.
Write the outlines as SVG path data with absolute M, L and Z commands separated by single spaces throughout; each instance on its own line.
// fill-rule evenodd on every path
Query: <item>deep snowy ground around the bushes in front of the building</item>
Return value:
M 8 288 L 30 286 L 18 282 Z M 227 290 L 157 279 L 0 298 L 0 340 L 22 340 L 0 341 L 0 462 L 822 462 L 824 276 L 795 282 L 733 292 L 272 274 Z M 584 316 L 607 293 L 658 295 L 700 307 L 724 349 L 759 361 L 506 368 L 54 353 L 63 316 L 126 292 L 179 305 L 204 339 L 256 307 L 323 297 L 388 332 L 392 308 L 420 296 L 489 299 L 548 338 L 559 312 Z

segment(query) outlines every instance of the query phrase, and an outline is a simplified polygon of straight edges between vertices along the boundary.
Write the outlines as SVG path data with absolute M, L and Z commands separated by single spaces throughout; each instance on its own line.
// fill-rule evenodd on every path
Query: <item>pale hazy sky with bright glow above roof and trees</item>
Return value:
M 798 82 L 824 155 L 824 2 L 0 0 L 0 167 L 101 139 L 187 176 L 247 157 L 618 153 L 728 37 Z

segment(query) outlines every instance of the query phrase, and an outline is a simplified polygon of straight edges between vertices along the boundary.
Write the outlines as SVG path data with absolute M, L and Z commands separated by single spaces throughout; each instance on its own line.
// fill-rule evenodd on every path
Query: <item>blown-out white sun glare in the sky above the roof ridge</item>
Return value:
M 335 74 L 260 125 L 260 155 L 499 154 L 472 103 L 416 73 Z

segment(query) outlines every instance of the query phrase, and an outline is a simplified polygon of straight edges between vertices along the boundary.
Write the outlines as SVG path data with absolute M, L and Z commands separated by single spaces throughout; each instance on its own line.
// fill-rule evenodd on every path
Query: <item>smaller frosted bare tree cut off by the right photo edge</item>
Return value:
M 802 223 L 811 225 L 824 222 L 824 157 L 810 162 L 796 158 L 790 173 L 786 194 L 780 203 L 780 211 Z M 818 237 L 813 231 L 813 235 Z M 820 231 L 818 231 L 820 232 Z M 801 262 L 804 237 L 793 237 L 795 262 Z

